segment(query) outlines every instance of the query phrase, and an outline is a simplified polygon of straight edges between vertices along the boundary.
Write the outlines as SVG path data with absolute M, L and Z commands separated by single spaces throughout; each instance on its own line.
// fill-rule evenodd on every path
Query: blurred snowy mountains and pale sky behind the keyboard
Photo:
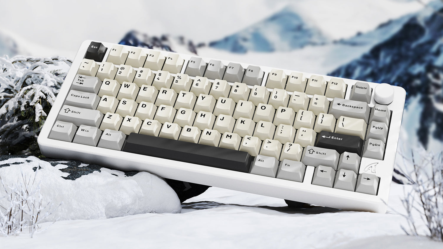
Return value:
M 400 151 L 443 149 L 441 0 L 1 1 L 0 55 L 86 39 L 399 85 Z

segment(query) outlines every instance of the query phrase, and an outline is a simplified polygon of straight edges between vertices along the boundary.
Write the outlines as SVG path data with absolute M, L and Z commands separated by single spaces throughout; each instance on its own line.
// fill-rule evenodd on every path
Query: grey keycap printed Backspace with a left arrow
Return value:
M 334 98 L 329 106 L 329 113 L 338 119 L 340 116 L 346 116 L 355 119 L 363 119 L 366 123 L 369 121 L 369 105 L 366 102 L 355 100 L 344 100 Z

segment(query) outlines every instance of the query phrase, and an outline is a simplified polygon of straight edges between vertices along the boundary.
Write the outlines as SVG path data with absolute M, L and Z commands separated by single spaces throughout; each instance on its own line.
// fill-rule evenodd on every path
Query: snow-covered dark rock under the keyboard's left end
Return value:
M 51 215 L 40 222 L 181 211 L 172 188 L 148 172 L 122 172 L 80 161 L 13 156 L 0 156 L 0 206 L 6 206 L 8 201 L 4 187 L 34 176 L 43 203 L 52 205 Z

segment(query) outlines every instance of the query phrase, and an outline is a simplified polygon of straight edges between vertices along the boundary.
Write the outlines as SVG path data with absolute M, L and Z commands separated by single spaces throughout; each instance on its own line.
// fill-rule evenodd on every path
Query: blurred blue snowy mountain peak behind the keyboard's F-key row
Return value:
M 328 38 L 318 28 L 291 8 L 284 8 L 261 22 L 221 40 L 210 42 L 209 46 L 233 53 L 246 53 L 290 51 L 326 42 Z

